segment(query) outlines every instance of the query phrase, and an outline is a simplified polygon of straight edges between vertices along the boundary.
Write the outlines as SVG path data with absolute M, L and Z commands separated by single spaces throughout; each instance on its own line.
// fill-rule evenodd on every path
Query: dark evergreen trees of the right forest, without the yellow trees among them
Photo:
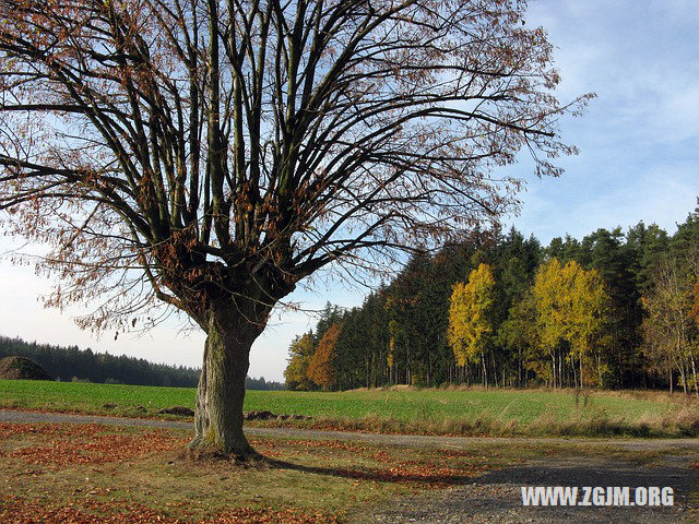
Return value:
M 474 235 L 469 241 L 447 245 L 433 254 L 414 254 L 396 277 L 369 294 L 362 307 L 341 313 L 328 305 L 323 310 L 316 343 L 333 322 L 343 323 L 333 355 L 335 386 L 474 384 L 485 376 L 489 383 L 500 386 L 544 383 L 546 379 L 540 376 L 543 371 L 528 366 L 528 359 L 536 354 L 532 345 L 536 336 L 531 330 L 536 317 L 526 303 L 537 269 L 553 258 L 561 266 L 576 262 L 584 270 L 595 270 L 603 282 L 608 306 L 604 333 L 599 334 L 594 348 L 601 359 L 599 369 L 604 368 L 602 385 L 668 385 L 667 374 L 660 376 L 660 368 L 648 361 L 650 357 L 642 349 L 647 318 L 642 298 L 653 293 L 659 267 L 667 265 L 668 260 L 682 273 L 683 286 L 696 284 L 699 210 L 690 213 L 672 237 L 657 225 L 641 222 L 626 234 L 620 227 L 601 228 L 582 240 L 567 235 L 542 248 L 533 236 L 524 238 L 511 228 L 506 234 Z M 481 263 L 490 266 L 496 282 L 496 299 L 488 313 L 494 332 L 483 361 L 457 367 L 446 336 L 450 296 L 454 284 L 465 282 Z M 696 331 L 691 327 L 688 336 L 695 337 L 699 347 Z M 564 386 L 580 383 L 581 371 L 569 358 L 569 349 L 561 348 L 554 364 L 556 383 Z M 694 373 L 687 367 L 694 354 L 683 358 L 685 376 Z

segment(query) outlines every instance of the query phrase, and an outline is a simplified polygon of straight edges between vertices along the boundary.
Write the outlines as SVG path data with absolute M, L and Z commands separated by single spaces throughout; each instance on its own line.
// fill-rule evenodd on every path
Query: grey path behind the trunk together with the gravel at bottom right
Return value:
M 74 422 L 119 426 L 191 428 L 189 421 L 117 418 L 92 415 L 66 415 L 0 410 L 3 422 Z M 528 457 L 500 471 L 489 472 L 473 481 L 441 491 L 391 500 L 378 508 L 362 508 L 347 515 L 353 524 L 673 524 L 699 522 L 699 439 L 518 439 L 398 436 L 316 431 L 292 428 L 248 427 L 250 436 L 299 439 L 352 440 L 369 443 L 473 449 L 491 444 L 496 449 L 526 450 L 557 446 L 557 452 L 541 458 Z M 482 450 L 487 449 L 482 448 Z M 562 451 L 561 451 L 562 450 Z M 519 455 L 517 455 L 519 456 Z M 649 460 L 651 456 L 651 460 Z M 638 458 L 638 460 L 637 460 Z M 628 486 L 630 500 L 636 487 L 672 487 L 674 505 L 638 507 L 548 507 L 522 505 L 521 488 L 526 486 Z M 580 500 L 580 499 L 579 499 Z

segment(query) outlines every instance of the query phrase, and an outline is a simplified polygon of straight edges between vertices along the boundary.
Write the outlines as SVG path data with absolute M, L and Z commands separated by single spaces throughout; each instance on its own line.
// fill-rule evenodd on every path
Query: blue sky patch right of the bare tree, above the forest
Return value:
M 562 126 L 581 154 L 530 183 L 513 223 L 545 242 L 640 219 L 673 230 L 699 195 L 697 3 L 546 0 L 529 21 L 557 48 L 560 99 L 597 98 Z

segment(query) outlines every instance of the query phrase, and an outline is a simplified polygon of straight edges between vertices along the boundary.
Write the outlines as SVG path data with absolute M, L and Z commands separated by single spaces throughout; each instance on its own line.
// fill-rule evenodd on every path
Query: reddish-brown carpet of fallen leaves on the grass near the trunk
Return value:
M 187 438 L 166 429 L 118 428 L 84 424 L 0 424 L 0 461 L 15 464 L 15 478 L 32 483 L 38 475 L 71 468 L 128 468 L 149 457 L 177 456 Z M 488 466 L 471 454 L 434 451 L 414 455 L 388 448 L 339 440 L 253 439 L 252 445 L 268 457 L 271 468 L 301 474 L 322 474 L 352 483 L 352 487 L 391 485 L 405 489 L 437 489 L 460 484 Z M 5 445 L 7 444 L 7 445 Z M 356 458 L 356 460 L 355 460 Z M 8 462 L 10 461 L 10 462 Z M 14 462 L 12 462 L 14 461 Z M 324 462 L 323 462 L 324 461 Z M 162 461 L 161 461 L 162 462 Z M 173 462 L 169 462 L 170 464 Z M 16 466 L 24 464 L 24 466 Z M 24 469 L 23 469 L 23 468 Z M 351 488 L 352 489 L 352 488 Z M 126 498 L 99 500 L 109 489 L 72 493 L 43 492 L 27 497 L 13 489 L 0 491 L 0 523 L 38 524 L 238 524 L 339 523 L 324 508 L 285 508 L 261 498 L 256 507 L 234 507 L 225 512 L 202 513 L 182 502 L 161 511 L 158 501 L 144 505 Z M 106 492 L 105 492 L 106 491 Z M 126 500 L 125 500 L 126 499 Z M 149 500 L 146 503 L 150 503 Z M 271 503 L 269 503 L 271 502 Z M 164 508 L 163 508 L 164 509 Z

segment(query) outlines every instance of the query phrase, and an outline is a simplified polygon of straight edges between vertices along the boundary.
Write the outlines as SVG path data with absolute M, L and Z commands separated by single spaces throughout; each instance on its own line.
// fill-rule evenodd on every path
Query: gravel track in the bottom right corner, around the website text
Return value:
M 696 458 L 696 456 L 695 456 Z M 528 461 L 523 465 L 487 473 L 472 484 L 428 496 L 415 496 L 386 504 L 356 522 L 376 524 L 672 524 L 697 523 L 699 501 L 697 471 L 683 457 L 668 456 L 662 464 L 641 466 L 608 457 L 571 456 Z M 523 507 L 522 486 L 670 486 L 674 505 L 639 507 Z M 581 497 L 578 499 L 580 501 Z

